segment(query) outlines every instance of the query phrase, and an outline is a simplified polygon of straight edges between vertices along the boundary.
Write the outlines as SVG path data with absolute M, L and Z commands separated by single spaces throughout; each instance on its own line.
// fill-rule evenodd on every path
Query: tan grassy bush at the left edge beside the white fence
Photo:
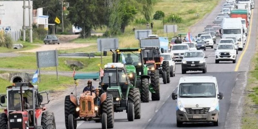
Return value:
M 13 41 L 10 34 L 5 33 L 4 30 L 0 30 L 0 47 L 13 47 Z

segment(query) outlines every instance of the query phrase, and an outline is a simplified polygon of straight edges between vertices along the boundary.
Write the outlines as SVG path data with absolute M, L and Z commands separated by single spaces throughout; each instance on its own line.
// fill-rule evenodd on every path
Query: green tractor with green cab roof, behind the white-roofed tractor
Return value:
M 149 91 L 152 101 L 157 101 L 160 99 L 159 71 L 148 71 L 148 65 L 144 65 L 142 50 L 142 48 L 127 48 L 110 51 L 113 52 L 113 62 L 123 63 L 131 84 L 140 89 L 141 101 L 149 102 Z

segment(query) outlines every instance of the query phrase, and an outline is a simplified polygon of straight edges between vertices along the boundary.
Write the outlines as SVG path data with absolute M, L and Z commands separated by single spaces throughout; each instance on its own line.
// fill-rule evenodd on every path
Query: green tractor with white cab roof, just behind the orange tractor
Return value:
M 128 121 L 141 118 L 140 91 L 131 84 L 127 67 L 122 63 L 108 63 L 104 66 L 101 87 L 113 96 L 114 112 L 126 110 Z

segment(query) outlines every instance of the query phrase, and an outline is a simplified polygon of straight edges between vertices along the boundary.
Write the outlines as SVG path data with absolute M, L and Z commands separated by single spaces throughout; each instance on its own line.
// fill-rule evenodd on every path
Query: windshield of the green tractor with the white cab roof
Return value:
M 126 74 L 124 70 L 118 70 L 118 80 L 119 83 L 126 83 Z M 109 83 L 109 76 L 110 76 L 110 83 L 116 83 L 116 70 L 105 70 L 103 81 L 102 83 Z

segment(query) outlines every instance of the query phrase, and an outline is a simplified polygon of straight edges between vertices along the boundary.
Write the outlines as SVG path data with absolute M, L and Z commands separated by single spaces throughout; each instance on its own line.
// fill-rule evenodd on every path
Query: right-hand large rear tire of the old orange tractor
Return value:
M 101 104 L 102 112 L 107 115 L 107 128 L 114 127 L 114 105 L 112 94 L 107 94 L 107 99 Z

